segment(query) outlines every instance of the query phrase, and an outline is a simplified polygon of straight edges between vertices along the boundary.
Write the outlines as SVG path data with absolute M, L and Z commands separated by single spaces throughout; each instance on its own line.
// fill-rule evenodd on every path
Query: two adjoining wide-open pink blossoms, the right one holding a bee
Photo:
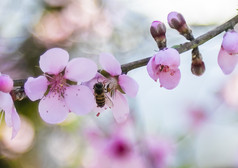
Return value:
M 29 99 L 41 99 L 38 107 L 41 118 L 56 124 L 64 121 L 69 112 L 84 115 L 92 110 L 100 113 L 110 107 L 117 122 L 125 121 L 129 106 L 123 93 L 136 96 L 138 84 L 122 74 L 119 62 L 110 54 L 101 54 L 104 72 L 101 75 L 97 72 L 97 65 L 87 58 L 68 60 L 69 55 L 63 49 L 46 51 L 39 62 L 44 74 L 37 78 L 29 77 L 25 83 Z M 103 106 L 98 106 L 94 90 L 99 82 L 103 84 L 101 99 L 110 100 L 105 100 Z

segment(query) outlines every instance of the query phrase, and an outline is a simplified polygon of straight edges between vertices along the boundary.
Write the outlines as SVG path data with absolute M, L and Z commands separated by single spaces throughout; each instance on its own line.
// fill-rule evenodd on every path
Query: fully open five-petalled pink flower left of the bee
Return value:
M 68 52 L 63 49 L 46 51 L 40 56 L 39 62 L 44 75 L 29 77 L 25 83 L 26 95 L 32 101 L 41 99 L 38 109 L 41 118 L 47 123 L 60 123 L 68 112 L 83 115 L 94 107 L 91 90 L 76 83 L 92 79 L 97 72 L 96 64 L 87 58 L 68 60 Z

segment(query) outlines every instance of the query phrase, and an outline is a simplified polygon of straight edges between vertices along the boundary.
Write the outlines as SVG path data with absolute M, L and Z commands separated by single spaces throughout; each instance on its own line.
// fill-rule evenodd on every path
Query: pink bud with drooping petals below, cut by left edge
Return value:
M 13 80 L 0 73 L 0 113 L 5 113 L 5 122 L 8 127 L 12 127 L 13 139 L 21 127 L 21 120 L 9 93 L 12 89 Z

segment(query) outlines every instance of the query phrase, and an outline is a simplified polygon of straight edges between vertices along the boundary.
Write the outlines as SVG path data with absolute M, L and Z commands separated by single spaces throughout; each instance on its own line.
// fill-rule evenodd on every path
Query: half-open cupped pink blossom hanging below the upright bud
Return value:
M 155 54 L 147 64 L 148 74 L 152 79 L 159 79 L 160 86 L 166 89 L 175 88 L 181 78 L 180 56 L 177 50 L 165 48 Z

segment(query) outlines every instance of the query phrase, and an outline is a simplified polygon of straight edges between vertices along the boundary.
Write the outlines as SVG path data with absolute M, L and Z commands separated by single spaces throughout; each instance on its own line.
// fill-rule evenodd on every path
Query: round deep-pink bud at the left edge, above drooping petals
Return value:
M 13 89 L 13 80 L 8 75 L 0 76 L 0 91 L 9 93 Z

